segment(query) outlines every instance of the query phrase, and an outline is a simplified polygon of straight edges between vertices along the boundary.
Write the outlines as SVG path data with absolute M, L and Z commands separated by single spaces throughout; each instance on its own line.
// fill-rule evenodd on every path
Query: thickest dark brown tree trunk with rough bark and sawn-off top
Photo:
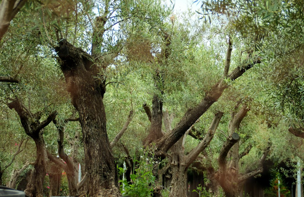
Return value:
M 109 146 L 102 100 L 105 84 L 93 78 L 97 75 L 97 68 L 93 65 L 92 56 L 64 39 L 60 40 L 56 51 L 72 104 L 79 114 L 89 194 L 118 196 L 116 164 Z

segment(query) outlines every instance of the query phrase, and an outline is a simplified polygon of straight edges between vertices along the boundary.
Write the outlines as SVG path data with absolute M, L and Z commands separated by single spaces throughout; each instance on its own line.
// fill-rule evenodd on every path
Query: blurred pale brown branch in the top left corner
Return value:
M 26 0 L 2 0 L 0 4 L 0 41 Z

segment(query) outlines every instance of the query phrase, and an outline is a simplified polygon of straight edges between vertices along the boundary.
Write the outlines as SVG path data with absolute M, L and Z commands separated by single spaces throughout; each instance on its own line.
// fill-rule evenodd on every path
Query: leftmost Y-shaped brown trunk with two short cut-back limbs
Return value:
M 20 117 L 22 127 L 27 135 L 29 135 L 36 144 L 36 161 L 34 163 L 34 170 L 31 175 L 30 181 L 27 184 L 26 195 L 29 196 L 43 196 L 42 185 L 44 177 L 46 175 L 47 167 L 47 150 L 43 139 L 43 128 L 46 127 L 57 115 L 56 112 L 49 114 L 47 119 L 40 122 L 40 113 L 31 114 L 31 112 L 25 108 L 19 100 L 14 100 L 8 104 L 10 109 L 15 109 Z

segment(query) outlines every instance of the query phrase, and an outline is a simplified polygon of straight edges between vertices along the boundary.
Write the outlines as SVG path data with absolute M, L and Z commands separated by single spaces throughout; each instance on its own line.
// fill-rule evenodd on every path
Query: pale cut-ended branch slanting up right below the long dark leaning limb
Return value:
M 196 159 L 196 157 L 199 155 L 199 153 L 205 150 L 205 148 L 209 145 L 209 143 L 211 142 L 214 136 L 216 128 L 219 125 L 219 121 L 223 117 L 223 114 L 224 114 L 223 112 L 219 111 L 214 115 L 208 133 L 205 135 L 204 139 L 202 139 L 199 145 L 197 145 L 194 149 L 191 150 L 191 152 L 188 155 L 185 156 L 187 158 L 186 159 L 187 167 L 189 167 L 192 164 L 192 162 Z

